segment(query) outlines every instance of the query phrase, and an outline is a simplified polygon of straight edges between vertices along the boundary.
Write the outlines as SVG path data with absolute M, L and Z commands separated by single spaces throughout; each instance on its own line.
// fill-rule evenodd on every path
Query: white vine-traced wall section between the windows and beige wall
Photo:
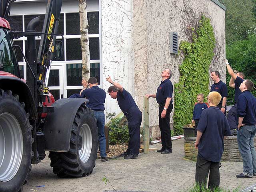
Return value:
M 111 84 L 104 79 L 110 75 L 112 80 L 134 94 L 134 57 L 132 53 L 132 1 L 102 0 L 102 88 L 107 90 Z M 106 112 L 121 112 L 117 101 L 106 97 Z

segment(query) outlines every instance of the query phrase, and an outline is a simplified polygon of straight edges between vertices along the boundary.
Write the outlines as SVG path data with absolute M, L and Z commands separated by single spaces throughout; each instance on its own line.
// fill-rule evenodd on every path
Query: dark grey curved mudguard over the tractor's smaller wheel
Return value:
M 44 123 L 45 149 L 48 151 L 67 152 L 70 148 L 72 125 L 78 108 L 88 102 L 83 98 L 59 99 L 52 106 Z

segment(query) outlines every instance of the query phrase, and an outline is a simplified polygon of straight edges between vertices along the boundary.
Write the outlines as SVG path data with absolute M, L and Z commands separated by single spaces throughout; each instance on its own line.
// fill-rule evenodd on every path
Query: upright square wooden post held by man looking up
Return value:
M 149 148 L 149 99 L 144 96 L 144 111 L 143 111 L 143 144 L 144 144 L 144 153 L 148 153 Z

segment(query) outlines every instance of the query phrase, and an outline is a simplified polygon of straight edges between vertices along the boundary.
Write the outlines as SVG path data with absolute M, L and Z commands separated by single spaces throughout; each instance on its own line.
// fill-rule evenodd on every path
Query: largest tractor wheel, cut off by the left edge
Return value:
M 18 95 L 0 89 L 0 192 L 21 192 L 31 170 L 32 126 Z

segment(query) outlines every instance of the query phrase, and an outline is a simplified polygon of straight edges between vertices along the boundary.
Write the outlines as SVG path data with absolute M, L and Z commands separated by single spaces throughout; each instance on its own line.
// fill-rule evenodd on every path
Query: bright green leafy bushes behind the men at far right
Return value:
M 226 46 L 226 58 L 234 70 L 244 72 L 245 79 L 256 83 L 256 35 L 250 34 L 248 39 L 236 41 Z M 228 84 L 230 75 L 227 72 L 226 82 Z M 256 96 L 256 90 L 252 91 Z M 234 99 L 234 89 L 228 87 L 228 98 Z M 231 103 L 233 104 L 233 103 Z

